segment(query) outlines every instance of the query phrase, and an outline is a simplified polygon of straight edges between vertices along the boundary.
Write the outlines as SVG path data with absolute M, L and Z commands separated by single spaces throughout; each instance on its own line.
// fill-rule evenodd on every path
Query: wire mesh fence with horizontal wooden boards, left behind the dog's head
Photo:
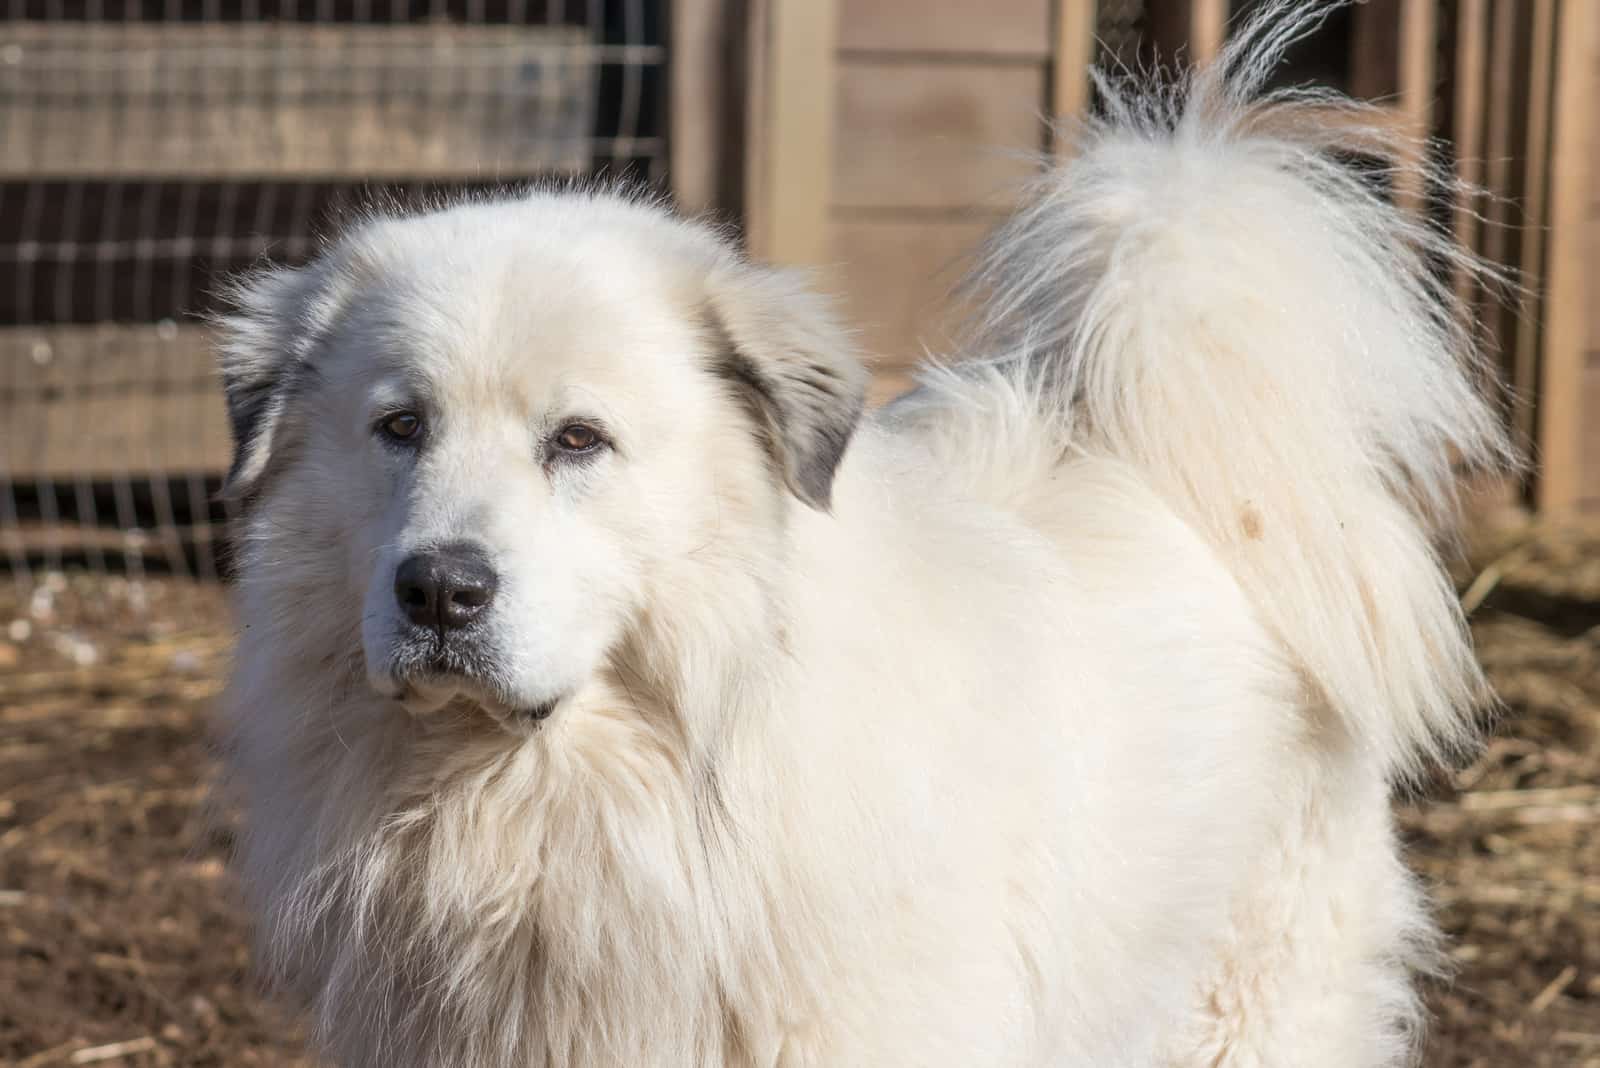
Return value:
M 0 568 L 218 572 L 202 315 L 352 205 L 662 177 L 666 0 L 10 0 Z

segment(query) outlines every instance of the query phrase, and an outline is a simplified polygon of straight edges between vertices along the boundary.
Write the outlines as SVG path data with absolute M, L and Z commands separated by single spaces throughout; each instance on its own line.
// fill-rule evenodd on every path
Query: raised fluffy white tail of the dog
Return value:
M 1475 261 L 1341 161 L 1418 153 L 1365 106 L 1258 96 L 1328 8 L 1269 3 L 1174 90 L 1101 82 L 1107 118 L 987 249 L 979 352 L 1000 355 L 974 371 L 1138 465 L 1403 775 L 1475 735 L 1485 686 L 1434 539 L 1458 468 L 1510 449 L 1442 280 Z

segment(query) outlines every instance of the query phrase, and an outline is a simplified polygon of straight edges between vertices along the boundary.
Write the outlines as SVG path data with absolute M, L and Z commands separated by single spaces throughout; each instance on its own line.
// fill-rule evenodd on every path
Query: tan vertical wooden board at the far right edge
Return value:
M 1547 3 L 1549 0 L 1541 0 Z M 1587 264 L 1592 141 L 1600 125 L 1600 6 L 1579 0 L 1558 6 L 1554 34 L 1554 117 L 1546 213 L 1530 208 L 1530 229 L 1542 225 L 1546 257 L 1544 337 L 1539 353 L 1539 483 L 1542 512 L 1578 508 L 1589 473 L 1586 435 L 1600 433 L 1600 404 L 1586 397 L 1587 331 L 1594 288 Z M 1539 50 L 1534 48 L 1538 58 Z M 1534 67 L 1538 72 L 1538 67 Z M 1530 125 L 1534 120 L 1530 120 Z M 1584 404 L 1589 403 L 1586 420 Z

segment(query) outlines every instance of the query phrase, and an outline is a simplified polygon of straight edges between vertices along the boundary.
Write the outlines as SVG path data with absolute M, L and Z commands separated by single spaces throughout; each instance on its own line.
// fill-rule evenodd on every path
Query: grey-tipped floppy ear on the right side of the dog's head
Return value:
M 726 264 L 709 288 L 710 371 L 750 411 L 790 492 L 827 512 L 867 397 L 850 333 L 797 272 Z

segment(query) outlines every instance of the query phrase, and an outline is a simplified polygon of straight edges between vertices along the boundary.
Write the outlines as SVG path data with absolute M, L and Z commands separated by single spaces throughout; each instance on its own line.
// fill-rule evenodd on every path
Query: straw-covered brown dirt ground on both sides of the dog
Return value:
M 1502 537 L 1462 587 L 1507 710 L 1400 806 L 1456 962 L 1424 1063 L 1600 1068 L 1600 529 Z M 0 1063 L 310 1063 L 203 812 L 227 648 L 213 587 L 0 577 Z

